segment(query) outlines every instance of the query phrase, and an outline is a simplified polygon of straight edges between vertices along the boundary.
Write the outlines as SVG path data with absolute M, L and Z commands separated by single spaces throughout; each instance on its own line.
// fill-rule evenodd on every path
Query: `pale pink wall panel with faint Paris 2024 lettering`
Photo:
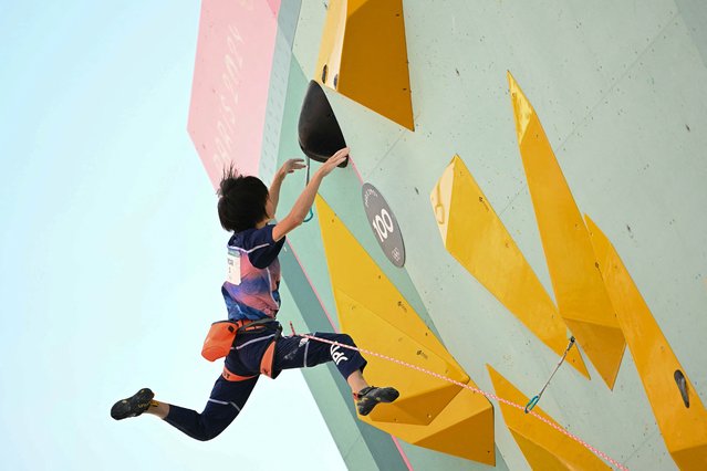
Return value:
M 188 130 L 216 187 L 226 165 L 257 175 L 280 0 L 204 0 Z

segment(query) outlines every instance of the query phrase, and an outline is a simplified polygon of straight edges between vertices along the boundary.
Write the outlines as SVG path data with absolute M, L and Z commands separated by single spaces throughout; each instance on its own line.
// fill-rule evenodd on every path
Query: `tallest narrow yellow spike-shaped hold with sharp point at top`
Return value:
M 532 105 L 508 73 L 518 146 L 560 315 L 610 388 L 626 347 L 590 236 Z

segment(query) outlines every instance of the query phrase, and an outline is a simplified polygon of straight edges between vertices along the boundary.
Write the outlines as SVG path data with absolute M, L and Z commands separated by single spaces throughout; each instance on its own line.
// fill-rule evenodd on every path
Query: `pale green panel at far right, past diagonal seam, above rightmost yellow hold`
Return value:
M 698 65 L 699 64 L 699 65 Z M 700 384 L 707 332 L 707 70 L 674 20 L 561 154 L 680 363 Z M 590 185 L 583 184 L 590 182 Z M 583 203 L 583 205 L 582 205 Z M 697 388 L 703 400 L 705 388 Z

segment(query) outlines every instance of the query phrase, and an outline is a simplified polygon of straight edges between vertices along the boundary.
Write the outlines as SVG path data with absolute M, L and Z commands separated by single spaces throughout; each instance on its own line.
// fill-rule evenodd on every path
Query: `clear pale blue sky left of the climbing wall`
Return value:
M 228 234 L 186 132 L 199 1 L 0 0 L 0 456 L 12 470 L 344 469 L 299 371 L 220 437 L 116 422 L 144 386 L 201 410 Z

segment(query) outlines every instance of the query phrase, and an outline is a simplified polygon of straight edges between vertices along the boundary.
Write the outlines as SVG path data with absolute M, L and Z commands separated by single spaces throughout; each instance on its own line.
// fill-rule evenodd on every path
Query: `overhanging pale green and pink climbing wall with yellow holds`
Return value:
M 189 130 L 214 184 L 301 156 L 312 80 L 351 147 L 288 237 L 283 321 L 521 406 L 576 338 L 545 421 L 378 359 L 401 400 L 361 420 L 334 368 L 305 370 L 350 469 L 707 469 L 704 2 L 202 4 Z

